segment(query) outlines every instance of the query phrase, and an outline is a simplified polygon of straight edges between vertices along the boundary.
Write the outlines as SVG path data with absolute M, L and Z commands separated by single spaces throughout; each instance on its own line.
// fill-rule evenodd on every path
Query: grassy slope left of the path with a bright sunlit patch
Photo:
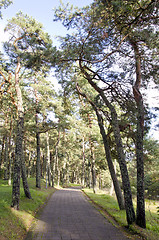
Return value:
M 41 189 L 36 189 L 35 179 L 28 179 L 32 200 L 24 195 L 21 184 L 20 210 L 15 211 L 10 207 L 12 198 L 12 187 L 7 181 L 0 180 L 0 239 L 22 240 L 35 219 L 39 208 L 45 203 L 53 188 L 45 188 L 42 181 Z

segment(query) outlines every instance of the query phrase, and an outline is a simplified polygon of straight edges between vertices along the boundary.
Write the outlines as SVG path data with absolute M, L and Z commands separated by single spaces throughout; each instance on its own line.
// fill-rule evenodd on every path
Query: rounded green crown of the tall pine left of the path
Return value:
M 41 23 L 19 12 L 8 22 L 5 31 L 11 34 L 10 42 L 4 45 L 11 58 L 20 57 L 24 66 L 34 71 L 42 70 L 44 65 L 47 70 L 52 66 L 56 48 L 52 46 L 52 40 L 43 31 Z

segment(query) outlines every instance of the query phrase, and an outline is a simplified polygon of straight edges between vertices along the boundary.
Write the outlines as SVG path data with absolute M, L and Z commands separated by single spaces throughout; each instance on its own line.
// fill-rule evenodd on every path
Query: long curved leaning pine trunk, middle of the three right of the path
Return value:
M 106 106 L 109 108 L 111 112 L 111 118 L 112 118 L 111 124 L 112 124 L 113 133 L 115 137 L 116 150 L 118 154 L 118 162 L 120 166 L 122 185 L 124 190 L 125 210 L 126 210 L 127 222 L 129 225 L 135 221 L 135 212 L 134 212 L 134 207 L 132 202 L 130 180 L 129 180 L 126 161 L 125 161 L 125 154 L 124 154 L 122 139 L 120 135 L 120 128 L 119 128 L 117 113 L 114 106 L 108 101 L 103 90 L 99 88 L 94 81 L 92 81 L 92 76 L 88 73 L 88 68 L 86 67 L 86 70 L 85 70 L 85 67 L 82 66 L 81 60 L 79 64 L 80 64 L 80 69 L 82 73 L 85 75 L 85 77 L 87 78 L 89 84 L 100 94 L 104 103 L 106 104 Z

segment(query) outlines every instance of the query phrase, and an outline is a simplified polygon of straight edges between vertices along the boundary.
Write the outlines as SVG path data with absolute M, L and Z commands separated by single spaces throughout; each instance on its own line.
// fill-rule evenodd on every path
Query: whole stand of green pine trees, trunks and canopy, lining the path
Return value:
M 4 15 L 10 4 L 0 2 Z M 158 105 L 147 103 L 147 88 L 159 84 L 158 4 L 61 3 L 52 18 L 68 33 L 58 46 L 36 19 L 18 12 L 8 21 L 0 52 L 0 178 L 12 185 L 13 208 L 21 178 L 30 199 L 29 178 L 39 189 L 43 179 L 46 188 L 76 183 L 94 193 L 114 189 L 128 225 L 146 227 L 145 197 L 159 198 L 159 142 L 150 137 Z

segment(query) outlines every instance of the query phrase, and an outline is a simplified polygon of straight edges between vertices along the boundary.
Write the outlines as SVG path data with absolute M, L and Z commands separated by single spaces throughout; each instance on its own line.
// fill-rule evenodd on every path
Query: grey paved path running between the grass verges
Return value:
M 79 189 L 56 191 L 34 229 L 36 240 L 128 240 Z M 30 238 L 29 238 L 30 240 Z

